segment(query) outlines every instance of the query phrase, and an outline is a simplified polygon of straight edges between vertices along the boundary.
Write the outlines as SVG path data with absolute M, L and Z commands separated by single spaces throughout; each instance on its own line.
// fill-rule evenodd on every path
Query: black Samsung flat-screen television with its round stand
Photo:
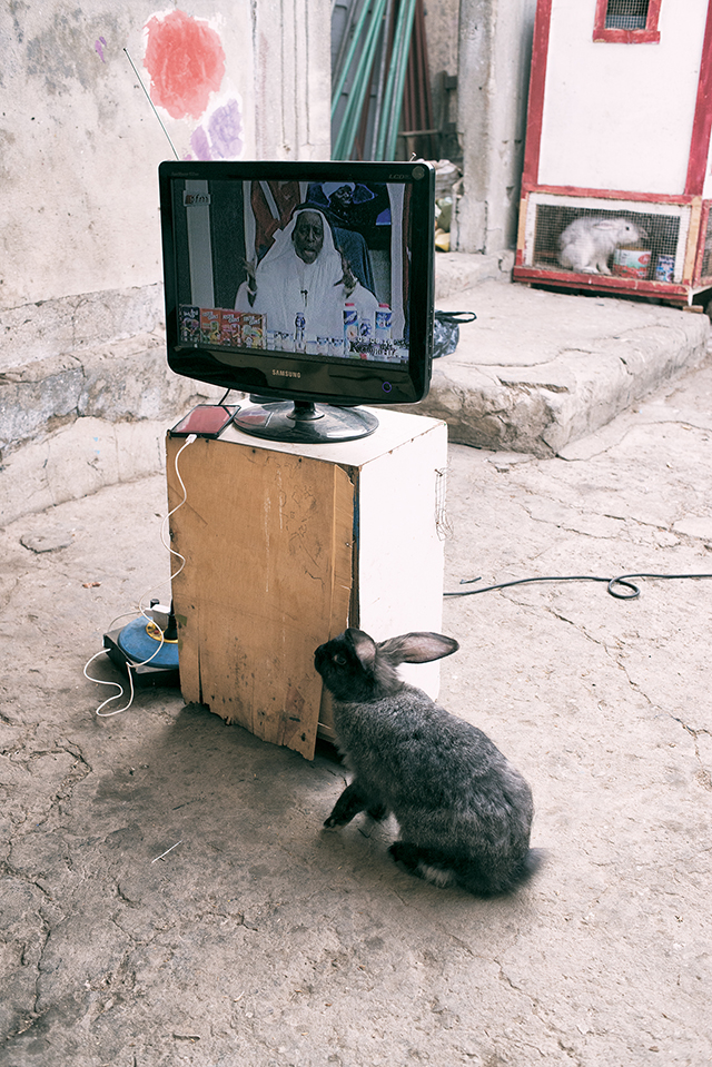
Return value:
M 248 393 L 248 433 L 372 433 L 431 382 L 434 169 L 425 162 L 160 165 L 168 363 Z

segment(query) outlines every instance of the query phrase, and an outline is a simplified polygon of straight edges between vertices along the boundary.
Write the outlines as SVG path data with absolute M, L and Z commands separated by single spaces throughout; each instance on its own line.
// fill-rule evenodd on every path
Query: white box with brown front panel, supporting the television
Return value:
M 358 441 L 291 445 L 230 427 L 180 456 L 182 694 L 307 759 L 317 731 L 333 737 L 318 644 L 349 625 L 377 641 L 442 625 L 447 427 L 373 414 L 378 428 Z M 184 443 L 167 439 L 170 508 Z M 438 663 L 403 671 L 437 695 Z

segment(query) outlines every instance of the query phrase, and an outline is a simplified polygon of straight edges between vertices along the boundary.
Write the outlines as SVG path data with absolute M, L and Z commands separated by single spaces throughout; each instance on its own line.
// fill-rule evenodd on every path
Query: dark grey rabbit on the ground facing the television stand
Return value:
M 508 892 L 538 866 L 530 849 L 532 791 L 476 727 L 408 685 L 399 663 L 456 652 L 438 633 L 406 633 L 379 644 L 349 629 L 319 645 L 315 666 L 334 698 L 334 727 L 354 779 L 324 823 L 359 811 L 393 812 L 393 858 L 436 886 L 481 897 Z

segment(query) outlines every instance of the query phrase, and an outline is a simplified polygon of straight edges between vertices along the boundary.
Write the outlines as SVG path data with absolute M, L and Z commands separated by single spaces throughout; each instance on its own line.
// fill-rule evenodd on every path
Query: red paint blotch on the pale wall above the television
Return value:
M 225 75 L 220 38 L 185 11 L 155 14 L 146 32 L 144 66 L 151 77 L 151 100 L 175 119 L 200 118 Z

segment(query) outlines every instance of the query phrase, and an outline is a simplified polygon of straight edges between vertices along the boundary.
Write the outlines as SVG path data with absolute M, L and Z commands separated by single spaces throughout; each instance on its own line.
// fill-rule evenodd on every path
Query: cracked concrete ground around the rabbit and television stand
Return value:
M 446 587 L 712 572 L 711 470 L 709 362 L 561 458 L 453 446 Z M 82 666 L 164 576 L 164 510 L 150 478 L 0 535 L 2 1067 L 712 1061 L 712 582 L 446 601 L 443 701 L 548 850 L 479 901 L 399 871 L 393 827 L 322 834 L 326 754 L 170 690 L 96 718 Z

